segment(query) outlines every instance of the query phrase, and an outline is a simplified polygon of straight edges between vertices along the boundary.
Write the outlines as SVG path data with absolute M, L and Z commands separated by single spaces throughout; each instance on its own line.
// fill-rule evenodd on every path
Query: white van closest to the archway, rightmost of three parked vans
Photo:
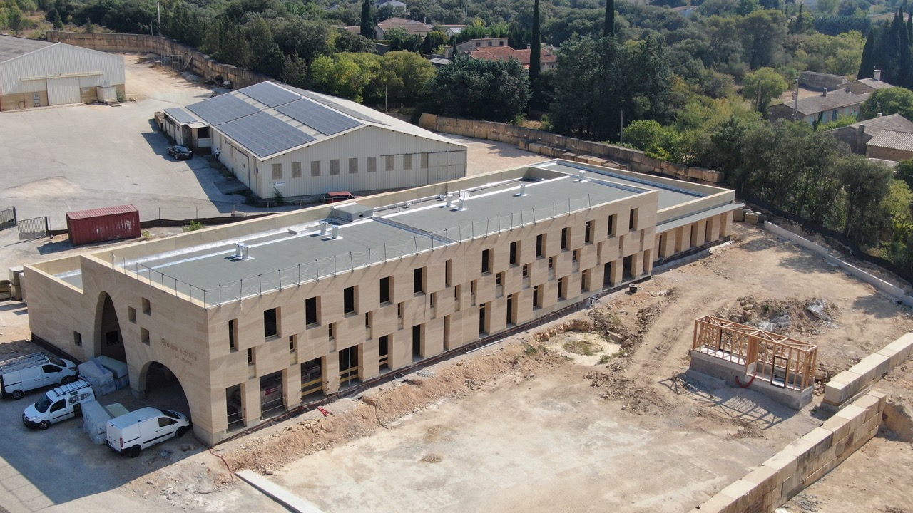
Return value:
M 148 406 L 108 421 L 105 436 L 111 450 L 135 458 L 150 445 L 184 436 L 190 426 L 184 414 Z

